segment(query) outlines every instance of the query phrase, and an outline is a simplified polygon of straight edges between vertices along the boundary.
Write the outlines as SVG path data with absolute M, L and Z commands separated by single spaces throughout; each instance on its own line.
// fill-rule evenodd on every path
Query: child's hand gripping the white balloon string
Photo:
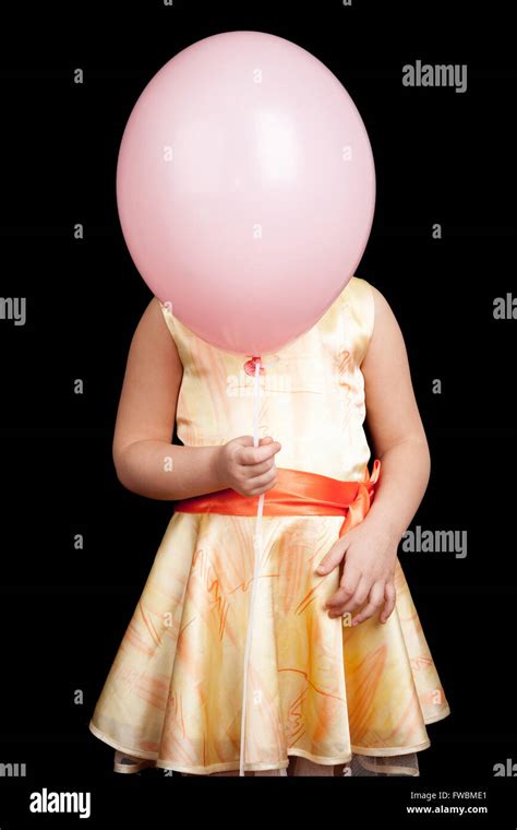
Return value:
M 275 454 L 279 449 L 278 441 L 269 436 L 261 438 L 258 447 L 253 447 L 251 436 L 233 438 L 220 447 L 217 456 L 221 483 L 241 496 L 260 496 L 270 490 L 277 483 Z

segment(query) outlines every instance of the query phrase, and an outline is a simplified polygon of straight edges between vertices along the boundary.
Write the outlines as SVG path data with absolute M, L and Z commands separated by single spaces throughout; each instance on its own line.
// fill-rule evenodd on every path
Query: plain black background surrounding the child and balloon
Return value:
M 0 320 L 0 762 L 25 762 L 27 776 L 0 779 L 1 830 L 77 820 L 32 816 L 28 793 L 44 786 L 91 791 L 89 821 L 99 826 L 108 803 L 120 815 L 143 807 L 149 822 L 160 807 L 178 821 L 182 804 L 249 820 L 251 785 L 278 798 L 256 806 L 276 805 L 275 816 L 285 806 L 291 820 L 311 805 L 320 820 L 348 820 L 353 808 L 356 821 L 404 822 L 411 790 L 459 786 L 489 793 L 489 816 L 472 823 L 515 827 L 515 780 L 493 774 L 495 763 L 517 762 L 517 320 L 493 319 L 494 298 L 517 296 L 517 71 L 505 9 L 175 0 L 24 2 L 2 12 L 0 293 L 27 298 L 27 321 Z M 117 154 L 158 69 L 231 29 L 286 37 L 322 60 L 372 143 L 375 218 L 356 273 L 399 320 L 430 441 L 431 483 L 412 524 L 468 532 L 465 559 L 400 553 L 452 708 L 428 727 L 419 780 L 290 779 L 286 793 L 285 780 L 218 779 L 214 788 L 157 770 L 123 776 L 87 728 L 171 512 L 124 490 L 111 461 L 128 348 L 151 299 L 118 221 Z M 467 63 L 467 92 L 402 86 L 402 66 L 417 59 Z M 73 83 L 75 68 L 83 85 Z M 84 240 L 73 239 L 75 223 Z M 84 395 L 73 393 L 76 378 Z M 436 378 L 442 394 L 433 394 Z M 73 547 L 77 533 L 83 550 Z M 206 802 L 195 801 L 200 786 Z

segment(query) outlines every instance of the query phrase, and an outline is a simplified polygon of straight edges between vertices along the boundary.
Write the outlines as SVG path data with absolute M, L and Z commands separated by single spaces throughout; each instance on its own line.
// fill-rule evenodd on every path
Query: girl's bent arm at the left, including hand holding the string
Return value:
M 121 484 L 154 499 L 183 499 L 227 487 L 256 496 L 276 484 L 280 444 L 263 438 L 253 447 L 240 436 L 215 447 L 171 443 L 183 367 L 153 297 L 133 335 L 113 436 Z

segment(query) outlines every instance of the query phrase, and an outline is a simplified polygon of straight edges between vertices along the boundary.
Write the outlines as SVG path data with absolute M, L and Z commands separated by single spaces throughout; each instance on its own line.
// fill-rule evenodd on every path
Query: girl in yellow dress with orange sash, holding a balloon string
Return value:
M 120 772 L 418 775 L 449 708 L 397 559 L 430 475 L 400 329 L 353 276 L 261 357 L 255 447 L 245 357 L 156 297 L 136 328 L 113 461 L 128 489 L 176 503 L 89 728 Z

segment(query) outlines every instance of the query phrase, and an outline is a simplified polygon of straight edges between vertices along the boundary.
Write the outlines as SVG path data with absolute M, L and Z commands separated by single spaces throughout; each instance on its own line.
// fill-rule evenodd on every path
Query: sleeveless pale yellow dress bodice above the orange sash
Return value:
M 224 352 L 183 325 L 161 304 L 183 365 L 177 434 L 185 446 L 226 443 L 253 431 L 254 378 L 245 355 Z M 308 332 L 274 354 L 263 354 L 260 437 L 281 443 L 278 467 L 341 481 L 364 476 L 370 447 L 363 429 L 361 363 L 373 332 L 370 283 L 353 276 Z

